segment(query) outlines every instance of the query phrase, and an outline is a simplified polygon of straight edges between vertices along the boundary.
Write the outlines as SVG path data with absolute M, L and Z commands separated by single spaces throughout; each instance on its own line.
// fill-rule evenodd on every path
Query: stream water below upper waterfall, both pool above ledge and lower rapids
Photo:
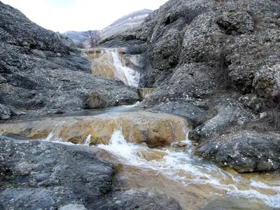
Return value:
M 138 110 L 135 105 L 118 106 L 75 116 Z M 54 132 L 43 140 L 50 139 L 71 144 L 63 142 Z M 125 190 L 156 188 L 179 200 L 184 209 L 280 209 L 279 173 L 238 174 L 230 168 L 222 169 L 193 156 L 192 142 L 188 137 L 185 142 L 186 148 L 152 149 L 144 144 L 127 143 L 120 127 L 113 132 L 109 145 L 96 147 L 112 154 L 114 161 L 120 163 L 117 176 L 126 183 Z M 89 144 L 90 135 L 84 145 Z

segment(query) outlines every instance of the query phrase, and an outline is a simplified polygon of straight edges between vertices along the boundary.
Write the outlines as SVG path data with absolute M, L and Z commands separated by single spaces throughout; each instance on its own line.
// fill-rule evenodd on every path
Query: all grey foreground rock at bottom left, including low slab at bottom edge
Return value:
M 181 209 L 160 193 L 116 191 L 116 171 L 98 153 L 98 148 L 0 137 L 0 208 Z

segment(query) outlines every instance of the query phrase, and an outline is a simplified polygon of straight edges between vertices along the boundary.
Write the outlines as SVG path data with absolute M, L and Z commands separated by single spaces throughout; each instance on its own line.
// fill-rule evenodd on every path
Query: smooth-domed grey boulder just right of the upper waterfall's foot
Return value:
M 209 94 L 214 94 L 217 85 L 212 67 L 197 63 L 184 64 L 148 95 L 142 104 L 155 106 L 162 102 L 203 99 Z

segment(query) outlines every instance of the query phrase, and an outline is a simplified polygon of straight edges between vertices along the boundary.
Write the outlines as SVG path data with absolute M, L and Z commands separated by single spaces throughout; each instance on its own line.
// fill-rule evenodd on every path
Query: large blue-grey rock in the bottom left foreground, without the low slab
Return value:
M 112 188 L 114 170 L 94 151 L 8 137 L 0 137 L 0 145 L 0 172 L 5 177 L 1 209 L 50 209 L 72 202 L 89 205 Z

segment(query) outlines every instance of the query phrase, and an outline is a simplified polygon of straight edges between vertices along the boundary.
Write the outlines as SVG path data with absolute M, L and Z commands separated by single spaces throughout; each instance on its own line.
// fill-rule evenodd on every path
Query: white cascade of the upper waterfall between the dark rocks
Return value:
M 116 76 L 127 85 L 138 87 L 140 80 L 140 73 L 129 67 L 125 66 L 121 61 L 121 57 L 118 54 L 118 49 L 108 49 L 113 56 L 113 65 L 116 68 Z

